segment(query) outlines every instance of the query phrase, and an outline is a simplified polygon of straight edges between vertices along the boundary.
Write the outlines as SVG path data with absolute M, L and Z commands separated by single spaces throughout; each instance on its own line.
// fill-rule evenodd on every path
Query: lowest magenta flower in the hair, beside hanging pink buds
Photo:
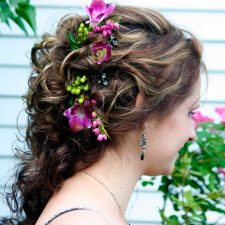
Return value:
M 74 106 L 67 109 L 64 116 L 69 118 L 69 126 L 73 132 L 79 132 L 85 128 L 91 128 L 91 111 L 89 106 L 75 103 Z

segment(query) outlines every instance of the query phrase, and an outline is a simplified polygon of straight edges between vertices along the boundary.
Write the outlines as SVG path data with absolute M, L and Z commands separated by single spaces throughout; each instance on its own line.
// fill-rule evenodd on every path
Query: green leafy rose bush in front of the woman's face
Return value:
M 209 224 L 209 211 L 225 216 L 225 124 L 202 123 L 196 135 L 194 142 L 180 150 L 173 174 L 161 178 L 158 190 L 163 193 L 164 205 L 159 211 L 163 224 Z M 153 184 L 152 178 L 142 183 Z M 169 201 L 173 215 L 166 215 Z

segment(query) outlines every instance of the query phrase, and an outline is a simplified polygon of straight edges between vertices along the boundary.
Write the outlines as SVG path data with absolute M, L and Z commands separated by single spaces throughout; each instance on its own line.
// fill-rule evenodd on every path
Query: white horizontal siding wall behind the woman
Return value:
M 53 31 L 58 19 L 66 13 L 85 11 L 76 0 L 34 0 L 37 7 L 38 36 Z M 82 4 L 89 4 L 85 0 Z M 109 2 L 109 1 L 108 1 Z M 161 11 L 167 18 L 195 33 L 204 45 L 204 60 L 209 70 L 209 90 L 202 111 L 216 117 L 214 107 L 225 104 L 225 2 L 220 0 L 130 0 L 115 3 L 151 7 Z M 32 44 L 38 39 L 26 37 L 12 24 L 12 29 L 0 24 L 0 191 L 6 178 L 12 173 L 12 146 L 16 145 L 16 122 L 23 127 L 26 116 L 23 112 L 21 95 L 27 87 L 30 72 L 29 54 Z M 18 117 L 18 113 L 20 116 Z M 161 194 L 155 188 L 138 188 L 134 192 L 127 216 L 132 225 L 159 224 L 158 207 L 162 206 Z M 168 212 L 170 211 L 170 207 Z M 8 215 L 0 201 L 0 216 Z M 216 214 L 210 214 L 214 221 Z M 224 221 L 225 223 L 225 221 Z

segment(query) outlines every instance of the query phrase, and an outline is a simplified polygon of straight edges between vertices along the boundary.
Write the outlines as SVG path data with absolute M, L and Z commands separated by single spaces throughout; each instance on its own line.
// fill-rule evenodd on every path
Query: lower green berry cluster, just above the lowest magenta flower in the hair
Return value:
M 84 102 L 84 92 L 89 90 L 89 84 L 87 83 L 87 76 L 76 76 L 71 85 L 66 87 L 66 90 L 73 95 L 77 96 L 78 102 L 82 104 Z

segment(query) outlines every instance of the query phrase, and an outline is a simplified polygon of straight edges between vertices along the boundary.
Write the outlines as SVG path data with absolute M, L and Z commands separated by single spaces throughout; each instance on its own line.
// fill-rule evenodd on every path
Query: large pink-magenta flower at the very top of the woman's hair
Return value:
M 92 0 L 90 7 L 84 7 L 89 15 L 89 23 L 92 26 L 96 26 L 103 19 L 107 18 L 115 9 L 115 4 L 111 4 L 106 8 L 106 4 L 103 0 Z

